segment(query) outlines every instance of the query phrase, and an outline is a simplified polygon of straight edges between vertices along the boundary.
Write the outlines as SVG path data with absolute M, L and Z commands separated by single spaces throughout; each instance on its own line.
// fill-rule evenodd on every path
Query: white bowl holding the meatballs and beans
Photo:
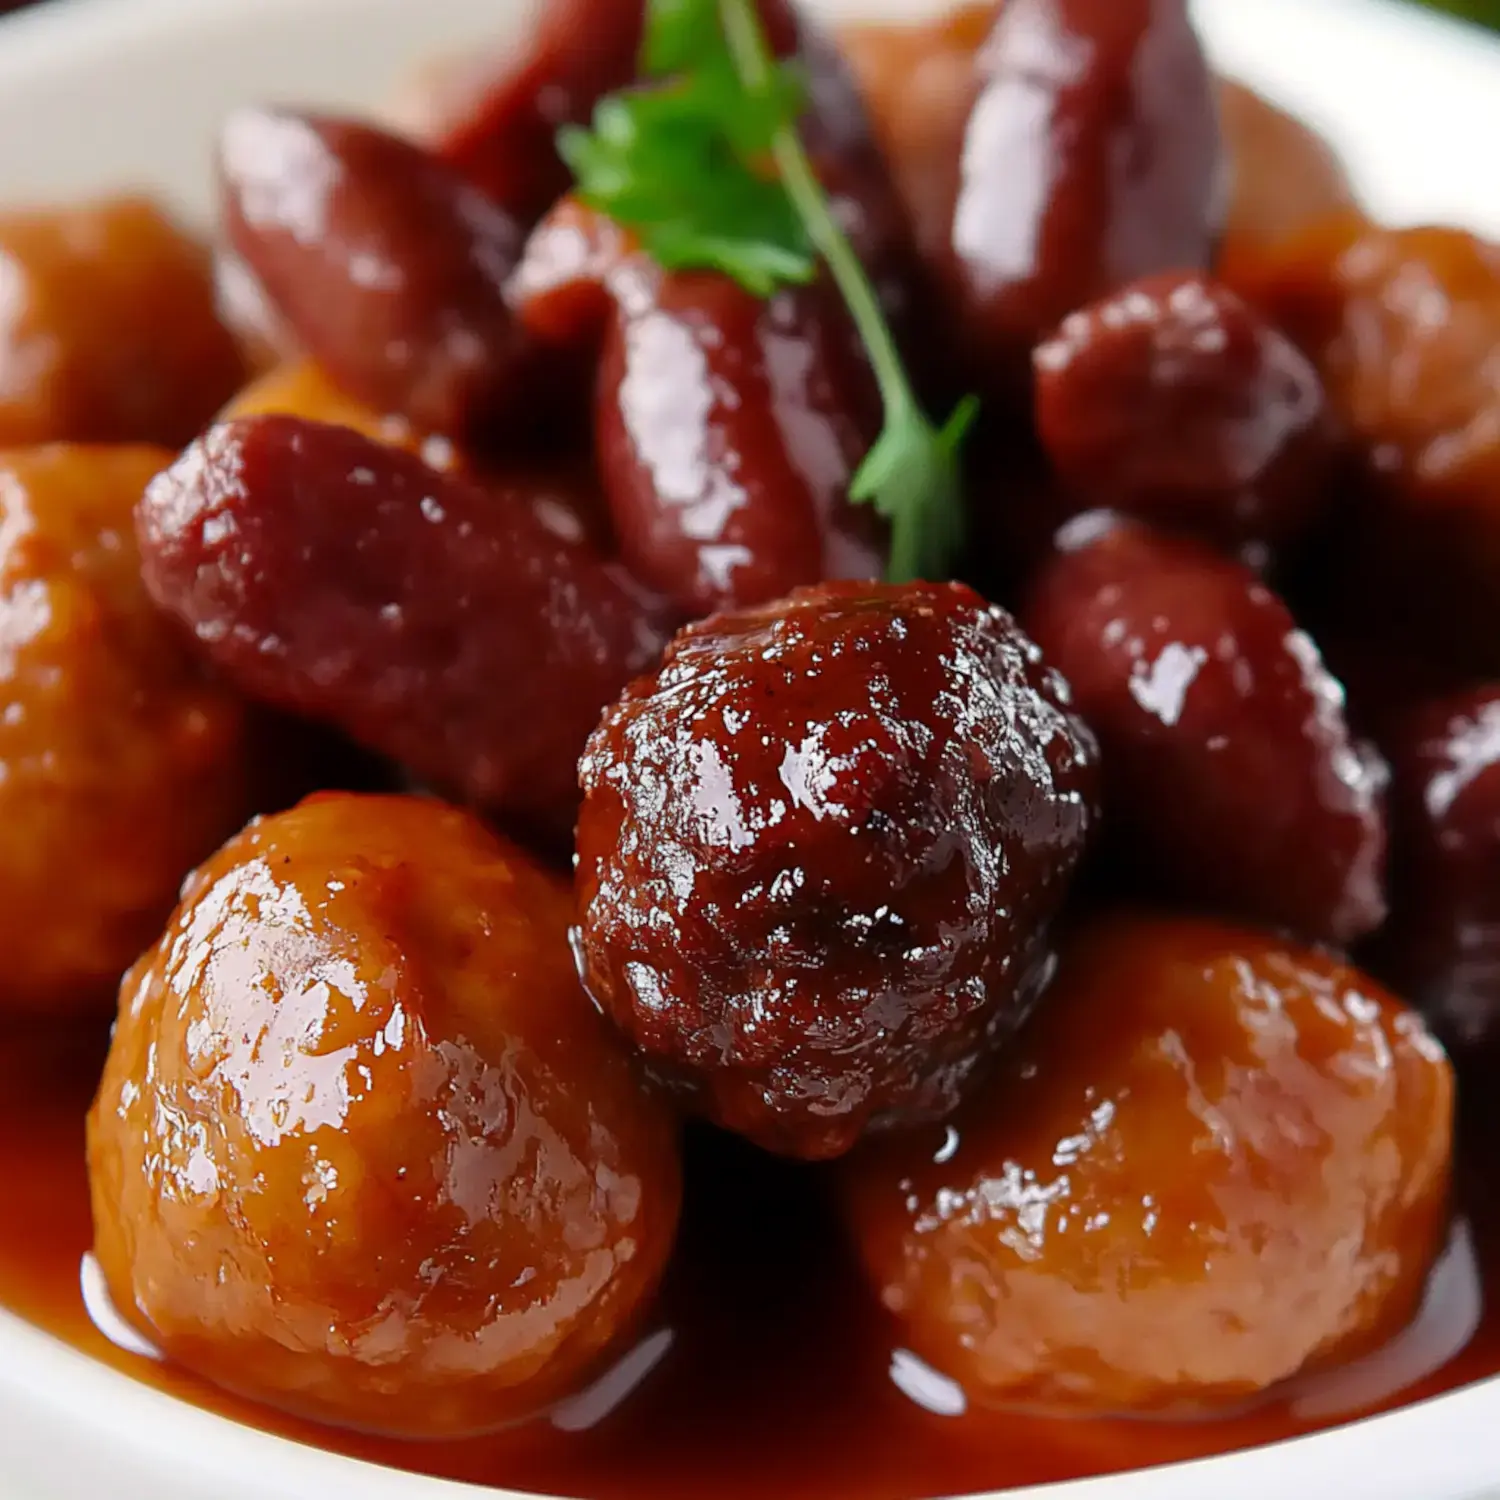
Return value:
M 909 14 L 930 0 L 822 0 Z M 54 0 L 0 26 L 0 202 L 120 188 L 204 213 L 208 141 L 256 98 L 386 98 L 524 0 Z M 1500 45 L 1382 0 L 1198 0 L 1218 63 L 1320 124 L 1394 220 L 1500 236 Z M 3 312 L 3 309 L 0 309 Z M 24 1233 L 6 1224 L 0 1233 Z M 3 1500 L 504 1500 L 237 1426 L 0 1311 Z M 1008 1500 L 1500 1500 L 1500 1380 L 1317 1437 Z

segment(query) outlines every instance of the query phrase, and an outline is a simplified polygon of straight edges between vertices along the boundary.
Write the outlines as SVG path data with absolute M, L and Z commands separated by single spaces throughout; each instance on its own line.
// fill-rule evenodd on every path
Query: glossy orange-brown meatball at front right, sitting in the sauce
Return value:
M 1438 1044 L 1354 969 L 1112 916 L 946 1136 L 872 1143 L 843 1203 L 904 1336 L 974 1400 L 1218 1404 L 1410 1318 L 1452 1113 Z

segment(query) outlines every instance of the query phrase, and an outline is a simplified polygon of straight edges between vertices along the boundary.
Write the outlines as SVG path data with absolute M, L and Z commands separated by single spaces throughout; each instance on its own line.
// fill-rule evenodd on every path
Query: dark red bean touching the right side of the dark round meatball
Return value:
M 1384 762 L 1248 567 L 1092 513 L 1060 532 L 1023 620 L 1100 736 L 1107 826 L 1134 874 L 1312 940 L 1380 924 Z

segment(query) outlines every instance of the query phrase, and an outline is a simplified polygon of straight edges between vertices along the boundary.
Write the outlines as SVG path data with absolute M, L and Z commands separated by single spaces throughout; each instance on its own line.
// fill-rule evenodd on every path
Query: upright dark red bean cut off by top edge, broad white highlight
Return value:
M 1185 0 L 1008 0 L 942 260 L 960 332 L 1010 374 L 1120 282 L 1209 264 L 1215 86 Z

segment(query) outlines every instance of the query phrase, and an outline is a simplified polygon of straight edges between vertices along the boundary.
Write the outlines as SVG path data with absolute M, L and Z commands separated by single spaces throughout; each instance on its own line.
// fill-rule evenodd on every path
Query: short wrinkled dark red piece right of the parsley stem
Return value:
M 1329 496 L 1336 454 L 1317 370 L 1206 276 L 1120 286 L 1065 318 L 1032 363 L 1036 423 L 1074 512 L 1275 544 Z

